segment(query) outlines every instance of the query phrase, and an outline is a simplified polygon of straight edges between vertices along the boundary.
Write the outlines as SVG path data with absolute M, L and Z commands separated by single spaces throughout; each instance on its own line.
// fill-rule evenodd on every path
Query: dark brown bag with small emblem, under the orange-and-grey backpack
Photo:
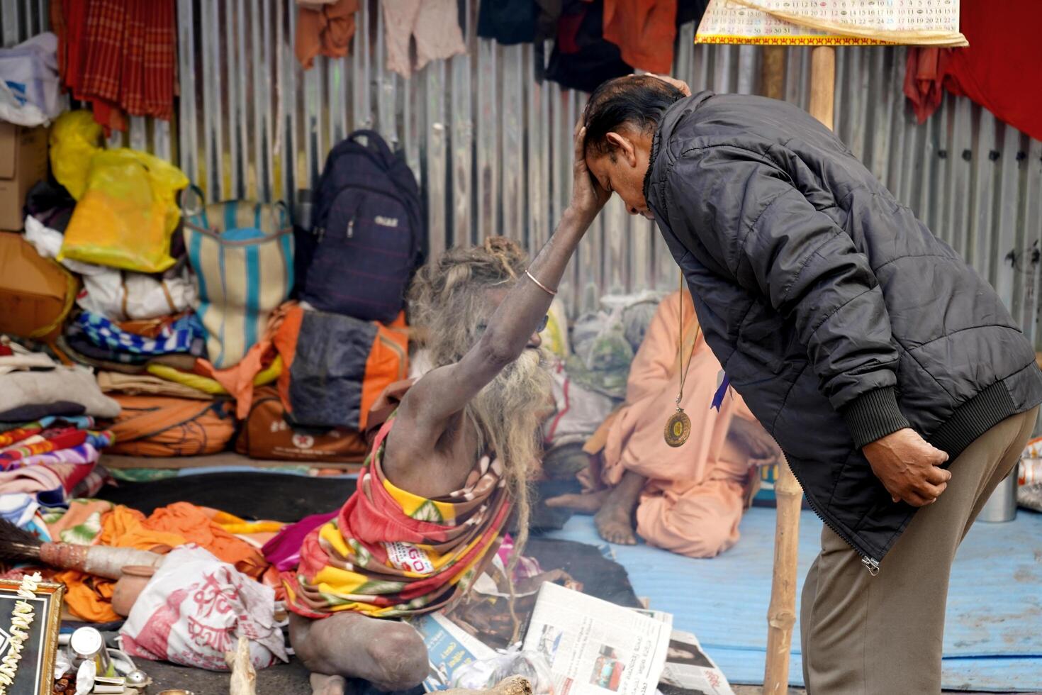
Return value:
M 293 427 L 274 387 L 257 389 L 250 414 L 235 441 L 235 451 L 250 458 L 362 463 L 368 453 L 365 438 L 351 429 L 317 431 Z

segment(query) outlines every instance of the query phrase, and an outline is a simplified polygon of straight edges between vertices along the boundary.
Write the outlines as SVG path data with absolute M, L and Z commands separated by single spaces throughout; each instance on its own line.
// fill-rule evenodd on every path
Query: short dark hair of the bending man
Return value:
M 607 152 L 607 133 L 626 124 L 641 132 L 653 129 L 666 109 L 683 98 L 678 89 L 650 75 L 626 75 L 602 82 L 582 111 L 587 151 Z

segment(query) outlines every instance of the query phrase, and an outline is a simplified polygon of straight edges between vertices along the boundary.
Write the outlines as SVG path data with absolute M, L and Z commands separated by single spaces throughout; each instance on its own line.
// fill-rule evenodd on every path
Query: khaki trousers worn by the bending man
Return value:
M 959 544 L 1010 473 L 1038 408 L 998 423 L 950 466 L 944 493 L 912 518 L 871 576 L 827 526 L 803 585 L 800 640 L 810 695 L 941 692 L 948 576 Z

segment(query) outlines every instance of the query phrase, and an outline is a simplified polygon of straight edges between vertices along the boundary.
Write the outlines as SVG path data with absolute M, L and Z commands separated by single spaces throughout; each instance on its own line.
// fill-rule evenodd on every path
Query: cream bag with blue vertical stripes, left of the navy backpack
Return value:
M 293 228 L 282 205 L 225 201 L 184 220 L 197 312 L 216 369 L 239 364 L 293 289 Z

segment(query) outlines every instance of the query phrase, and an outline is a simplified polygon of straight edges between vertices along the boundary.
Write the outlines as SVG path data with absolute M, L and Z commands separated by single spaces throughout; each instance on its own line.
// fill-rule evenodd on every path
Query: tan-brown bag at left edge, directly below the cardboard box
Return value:
M 0 333 L 49 343 L 61 331 L 76 278 L 22 234 L 0 232 Z

